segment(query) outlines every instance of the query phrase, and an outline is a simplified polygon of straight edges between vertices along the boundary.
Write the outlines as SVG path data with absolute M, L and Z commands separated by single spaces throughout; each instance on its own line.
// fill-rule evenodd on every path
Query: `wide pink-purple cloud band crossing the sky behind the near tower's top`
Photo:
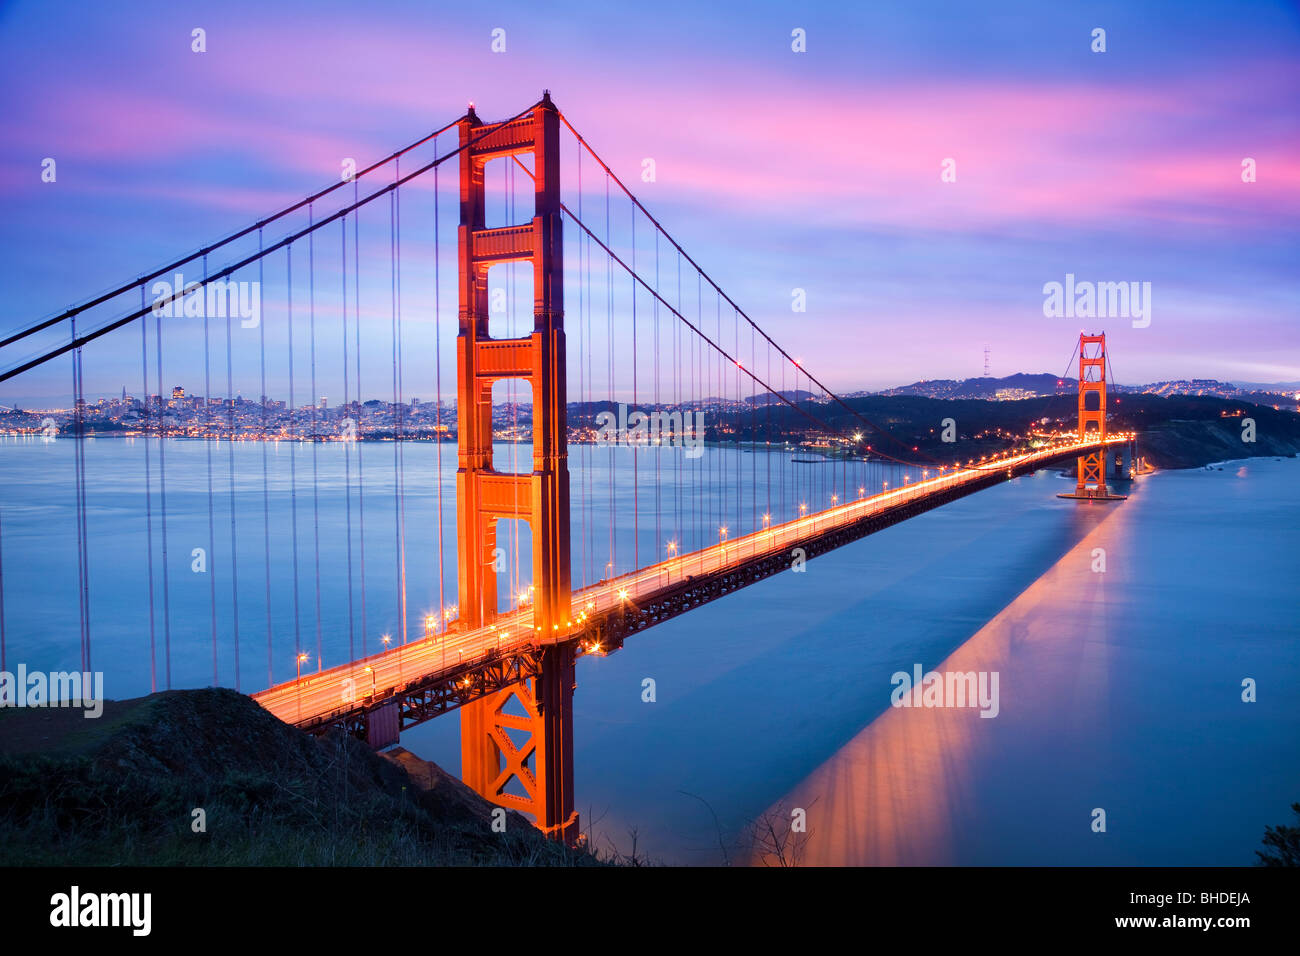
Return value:
M 930 229 L 1127 228 L 1135 220 L 1213 226 L 1300 211 L 1300 135 L 1294 125 L 1247 118 L 1261 88 L 1297 86 L 1300 72 L 1290 65 L 1260 64 L 1226 85 L 872 87 L 715 61 L 647 85 L 634 70 L 602 65 L 598 49 L 551 61 L 520 44 L 502 70 L 490 69 L 486 43 L 471 49 L 448 40 L 430 52 L 420 31 L 350 23 L 346 33 L 348 48 L 382 51 L 384 69 L 344 57 L 321 70 L 322 51 L 341 48 L 338 25 L 276 30 L 261 21 L 222 40 L 238 56 L 214 46 L 202 75 L 188 60 L 159 66 L 179 78 L 174 88 L 143 79 L 118 88 L 55 81 L 35 109 L 74 122 L 56 130 L 53 143 L 29 133 L 26 144 L 117 163 L 222 151 L 247 157 L 250 174 L 270 168 L 302 177 L 302 195 L 328 182 L 341 157 L 364 165 L 394 148 L 377 126 L 404 125 L 415 137 L 421 125 L 454 118 L 469 98 L 486 117 L 507 114 L 540 92 L 520 78 L 545 77 L 575 125 L 651 208 L 668 199 L 767 217 L 788 209 L 828 225 Z M 1188 126 L 1201 139 L 1188 142 Z M 646 156 L 658 164 L 653 185 L 640 182 Z M 1242 156 L 1260 161 L 1258 182 L 1240 182 Z M 946 157 L 956 160 L 956 183 L 940 182 Z M 168 199 L 187 191 L 244 216 L 266 212 L 252 204 L 273 195 L 226 191 L 199 174 L 146 187 Z

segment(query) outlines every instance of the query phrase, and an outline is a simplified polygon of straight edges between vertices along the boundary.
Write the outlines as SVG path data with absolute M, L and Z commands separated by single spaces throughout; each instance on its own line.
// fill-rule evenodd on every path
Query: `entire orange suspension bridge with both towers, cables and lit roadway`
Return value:
M 439 151 L 442 139 L 452 135 L 455 147 Z M 568 191 L 560 176 L 566 147 L 575 156 L 571 168 L 576 173 Z M 422 153 L 428 150 L 432 157 Z M 441 256 L 443 246 L 450 245 L 442 238 L 446 230 L 439 170 L 448 163 L 456 164 L 454 182 L 459 191 L 454 412 L 443 403 L 439 334 Z M 363 183 L 369 190 L 364 194 Z M 412 208 L 432 212 L 432 229 L 426 224 L 412 229 Z M 294 228 L 304 212 L 306 225 Z M 490 219 L 502 222 L 489 225 Z M 266 242 L 265 233 L 272 228 L 285 232 Z M 254 241 L 256 248 L 244 248 Z M 412 246 L 417 268 L 410 264 Z M 566 256 L 567 248 L 576 256 Z M 385 304 L 382 268 L 374 263 L 382 265 L 385 252 L 387 355 L 374 333 Z M 229 264 L 209 269 L 209 259 L 218 254 Z M 576 317 L 573 337 L 566 334 L 567 259 L 569 276 L 576 274 L 571 298 L 576 290 L 577 310 L 568 316 Z M 181 281 L 177 273 L 195 265 L 202 269 L 202 280 Z M 503 291 L 508 300 L 520 299 L 515 267 L 530 282 L 530 297 L 525 299 L 532 299 L 532 326 L 514 328 L 511 308 L 506 334 L 499 334 L 493 315 L 500 310 L 494 308 L 494 298 Z M 272 304 L 272 317 L 265 298 L 268 268 L 283 277 L 282 303 Z M 491 280 L 493 271 L 500 268 L 508 271 L 504 286 Z M 412 281 L 428 280 L 430 272 L 432 285 L 412 307 Z M 173 276 L 174 286 L 168 285 Z M 174 402 L 165 398 L 164 367 L 168 363 L 169 372 L 185 362 L 196 367 L 199 349 L 195 333 L 176 330 L 174 316 L 191 315 L 186 308 L 196 299 L 211 306 L 230 284 L 251 282 L 252 276 L 259 316 L 252 326 L 240 323 L 237 333 L 235 323 L 243 313 L 229 307 L 195 310 L 202 312 L 194 317 L 202 317 L 204 389 L 192 406 L 198 421 L 178 420 L 170 414 Z M 160 280 L 162 294 L 156 291 Z M 277 281 L 273 276 L 272 284 Z M 209 290 L 220 294 L 212 297 Z M 412 312 L 420 320 L 413 326 Z M 432 334 L 424 334 L 430 317 Z M 1057 436 L 1005 455 L 945 464 L 868 420 L 750 319 L 619 179 L 549 94 L 500 122 L 481 121 L 471 107 L 456 121 L 302 202 L 5 334 L 0 338 L 0 382 L 48 373 L 55 359 L 70 355 L 73 415 L 68 433 L 84 438 L 92 433 L 87 425 L 84 362 L 88 352 L 99 354 L 87 346 L 100 339 L 122 343 L 136 328 L 135 354 L 144 397 L 133 427 L 143 438 L 144 507 L 139 519 L 146 540 L 144 580 L 138 597 L 148 610 L 151 689 L 172 687 L 173 644 L 179 633 L 195 633 L 194 622 L 178 620 L 172 609 L 177 585 L 169 571 L 174 529 L 169 533 L 168 522 L 170 518 L 174 524 L 177 516 L 174 505 L 169 510 L 168 490 L 174 499 L 177 477 L 173 466 L 169 484 L 166 440 L 204 437 L 209 440 L 204 457 L 212 683 L 221 683 L 222 659 L 229 656 L 231 683 L 239 687 L 240 649 L 247 653 L 254 641 L 261 641 L 257 632 L 264 631 L 266 687 L 254 697 L 289 723 L 316 731 L 342 727 L 380 748 L 395 743 L 404 727 L 459 709 L 465 783 L 566 840 L 577 835 L 572 696 L 578 657 L 612 653 L 629 636 L 786 571 L 794 559 L 811 559 L 1045 466 L 1076 459 L 1078 485 L 1070 497 L 1086 499 L 1117 497 L 1106 479 L 1127 475 L 1131 467 L 1124 455 L 1131 462 L 1132 436 L 1106 432 L 1104 334 L 1082 334 L 1078 343 L 1076 434 Z M 216 332 L 216 349 L 211 332 Z M 250 346 L 244 333 L 255 336 L 256 343 Z M 411 343 L 416 341 L 420 345 L 411 358 Z M 369 364 L 363 363 L 363 350 Z M 112 371 L 124 367 L 120 347 L 107 359 Z M 381 420 L 361 398 L 363 372 L 370 381 L 377 356 L 391 358 L 391 376 L 381 380 L 391 388 L 391 420 Z M 224 395 L 213 394 L 213 358 L 218 390 L 225 372 Z M 256 367 L 260 399 L 251 412 L 235 399 L 237 364 L 243 373 Z M 273 377 L 287 381 L 283 403 L 268 397 L 268 368 Z M 437 392 L 432 431 L 437 520 L 433 528 L 415 531 L 406 520 L 411 485 L 404 445 L 410 438 L 430 436 L 421 433 L 407 411 L 412 372 L 422 384 L 432 378 Z M 335 407 L 333 420 L 318 398 L 318 375 L 329 375 L 343 388 L 343 402 Z M 304 384 L 309 411 L 298 405 Z M 508 389 L 504 406 L 494 401 L 498 384 Z M 530 401 L 516 401 L 516 385 L 528 389 Z M 577 441 L 578 481 L 571 485 L 575 428 L 568 421 L 569 407 L 580 410 L 584 421 L 578 424 L 589 433 L 597 410 L 608 411 L 615 405 L 653 410 L 664 431 L 653 441 L 629 440 L 627 449 Z M 503 467 L 507 463 L 500 460 L 500 442 L 494 441 L 502 431 L 494 416 L 499 407 L 510 408 L 508 432 L 515 440 L 524 433 L 530 437 L 528 468 L 520 470 L 517 460 L 510 462 L 508 470 Z M 529 419 L 523 424 L 521 407 L 526 407 Z M 722 419 L 715 424 L 714 444 L 731 441 L 733 447 L 754 453 L 748 470 L 738 457 L 728 470 L 725 455 L 718 457 L 715 466 L 712 457 L 694 462 L 676 454 L 664 467 L 660 449 L 680 444 L 689 410 L 706 407 L 718 410 L 715 418 Z M 667 415 L 664 408 L 688 414 Z M 442 418 L 445 410 L 447 421 Z M 445 528 L 442 444 L 451 433 L 452 415 L 458 442 L 455 527 Z M 790 434 L 800 432 L 819 436 L 829 449 L 823 467 L 793 477 L 777 467 L 774 477 L 774 457 L 757 453 L 788 449 Z M 367 449 L 367 442 L 356 441 L 376 437 L 393 440 L 391 466 L 386 449 Z M 256 481 L 251 490 L 242 486 L 246 464 L 237 467 L 235 445 L 247 438 L 261 441 L 260 496 Z M 224 468 L 213 460 L 214 446 L 221 458 L 221 440 L 226 441 Z M 326 568 L 322 580 L 318 447 L 326 440 L 343 441 L 346 574 L 335 579 Z M 273 520 L 269 503 L 266 445 L 274 441 L 289 447 L 287 549 L 282 546 L 285 519 L 277 510 Z M 300 463 L 299 477 L 296 446 L 303 442 L 311 444 L 311 453 Z M 512 459 L 519 444 L 511 446 Z M 615 457 L 624 453 L 632 458 L 630 480 L 624 476 L 620 481 Z M 377 460 L 380 454 L 384 460 Z M 607 455 L 603 471 L 598 462 L 602 455 Z M 95 516 L 87 507 L 88 477 L 91 488 L 95 485 L 94 475 L 88 476 L 92 467 L 84 441 L 74 442 L 72 467 L 79 653 L 82 669 L 90 670 L 92 605 L 105 597 L 92 602 L 90 550 Z M 368 496 L 368 481 L 382 483 L 381 490 Z M 309 509 L 306 501 L 299 502 L 299 488 L 304 498 L 309 490 Z M 229 522 L 222 522 L 218 535 L 222 490 L 222 518 L 229 516 Z M 332 490 L 326 483 L 325 494 Z M 384 510 L 377 511 L 381 501 Z M 632 518 L 630 548 L 625 529 L 616 528 L 619 515 L 627 510 Z M 311 554 L 300 548 L 308 516 Z M 395 585 L 391 596 L 384 596 L 382 613 L 396 622 L 398 639 L 385 633 L 382 646 L 372 652 L 370 622 L 380 617 L 373 588 L 374 523 L 381 519 L 385 524 L 391 519 L 391 553 L 385 549 L 385 557 L 391 557 Z M 367 520 L 372 523 L 370 537 Z M 506 549 L 498 546 L 503 524 L 508 528 Z M 521 524 L 529 535 L 528 568 L 520 557 Z M 255 554 L 259 538 L 260 562 Z M 432 597 L 436 592 L 437 601 L 432 610 L 408 614 L 407 554 L 412 549 L 437 550 L 437 581 L 428 581 L 428 593 Z M 225 562 L 218 561 L 222 554 Z M 454 584 L 445 574 L 445 554 L 455 558 Z M 291 567 L 287 588 L 282 587 L 283 563 Z M 304 574 L 315 579 L 306 594 Z M 502 576 L 504 580 L 499 580 Z M 218 600 L 218 579 L 230 604 L 229 613 L 222 606 L 220 615 L 218 605 L 225 600 Z M 62 581 L 56 584 L 58 593 L 70 589 Z M 322 611 L 322 594 L 344 588 L 346 620 L 332 620 Z M 450 601 L 452 591 L 455 600 Z M 265 622 L 254 627 L 250 607 L 259 605 L 265 607 Z M 277 624 L 273 607 L 291 607 L 291 627 Z M 416 619 L 413 628 L 411 618 Z M 0 604 L 0 657 L 5 650 L 3 619 Z M 303 633 L 304 622 L 315 626 L 315 654 Z M 277 658 L 277 644 L 283 643 L 286 630 L 294 639 L 287 662 L 283 654 Z M 286 672 L 289 666 L 292 678 Z

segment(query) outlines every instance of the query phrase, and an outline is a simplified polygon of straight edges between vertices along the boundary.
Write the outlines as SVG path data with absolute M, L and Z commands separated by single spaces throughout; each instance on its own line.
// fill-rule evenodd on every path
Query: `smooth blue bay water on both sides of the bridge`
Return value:
M 374 650 L 382 632 L 400 633 L 403 570 L 412 637 L 438 606 L 436 446 L 402 450 L 403 568 L 391 445 L 363 449 L 364 501 L 356 457 L 344 472 L 339 445 L 316 449 L 315 481 L 311 446 L 237 445 L 231 567 L 230 449 L 169 441 L 165 610 L 157 442 L 151 449 L 160 685 L 168 630 L 173 685 L 212 683 L 213 585 L 217 679 L 235 683 L 235 572 L 246 691 L 268 676 L 291 678 L 295 649 L 315 656 L 317 631 L 326 666 L 350 649 Z M 526 462 L 526 451 L 506 446 L 498 460 L 514 453 Z M 216 558 L 198 574 L 192 549 L 209 545 L 209 454 Z M 658 537 L 673 533 L 675 509 L 698 515 L 701 527 L 738 527 L 775 510 L 774 501 L 790 509 L 820 501 L 835 484 L 829 467 L 789 455 L 710 449 L 679 467 L 642 453 L 641 497 L 650 488 L 651 498 L 633 520 L 628 450 L 618 450 L 612 467 L 603 453 L 585 454 L 571 458 L 578 584 L 604 575 L 610 502 L 597 489 L 611 473 L 620 571 L 633 548 L 647 563 Z M 68 440 L 0 441 L 10 666 L 78 663 L 70 460 Z M 711 481 L 692 467 L 710 468 Z M 143 442 L 87 442 L 87 468 L 95 666 L 109 696 L 146 693 Z M 724 501 L 723 470 L 731 479 L 746 470 L 772 492 Z M 455 601 L 454 471 L 455 451 L 443 446 L 447 604 Z M 1300 800 L 1297 477 L 1294 460 L 1234 462 L 1149 476 L 1126 502 L 1080 505 L 1056 498 L 1066 483 L 1040 472 L 662 624 L 608 658 L 584 658 L 575 697 L 584 827 L 624 851 L 636 831 L 638 851 L 664 862 L 751 862 L 750 825 L 802 808 L 809 832 L 797 838 L 800 853 L 815 864 L 1251 864 L 1264 826 L 1284 822 Z M 900 476 L 872 471 L 861 480 Z M 525 531 L 525 570 L 515 574 L 511 548 L 503 600 L 526 584 L 526 548 Z M 1097 549 L 1106 559 L 1100 574 Z M 890 675 L 918 663 L 997 671 L 998 717 L 890 708 Z M 645 678 L 655 682 L 654 702 L 642 701 Z M 1257 683 L 1254 704 L 1242 701 L 1245 678 Z M 459 770 L 454 714 L 407 731 L 402 743 Z M 1106 812 L 1104 834 L 1091 829 L 1095 808 Z

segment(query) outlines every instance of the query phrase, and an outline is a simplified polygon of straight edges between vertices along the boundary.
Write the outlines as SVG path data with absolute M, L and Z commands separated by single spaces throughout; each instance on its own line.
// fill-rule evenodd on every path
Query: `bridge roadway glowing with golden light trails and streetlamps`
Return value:
M 1106 444 L 1118 445 L 1130 440 L 1131 436 L 1109 436 Z M 528 672 L 526 663 L 520 669 L 520 661 L 526 662 L 528 652 L 536 652 L 540 645 L 578 640 L 580 653 L 612 650 L 621 644 L 621 637 L 610 641 L 614 646 L 602 648 L 599 644 L 602 628 L 595 627 L 594 623 L 608 620 L 610 615 L 619 615 L 629 606 L 647 605 L 660 593 L 681 589 L 681 585 L 686 583 L 699 583 L 727 575 L 732 570 L 753 564 L 763 558 L 779 558 L 788 564 L 790 549 L 827 532 L 850 528 L 872 515 L 894 511 L 901 505 L 926 502 L 931 498 L 948 501 L 953 497 L 952 492 L 962 493 L 970 485 L 976 488 L 987 485 L 991 476 L 997 477 L 1004 471 L 1008 476 L 1023 475 L 1053 460 L 1093 450 L 1096 445 L 1096 442 L 1078 441 L 1058 442 L 1031 453 L 959 468 L 915 484 L 906 484 L 902 488 L 836 505 L 742 537 L 724 540 L 702 550 L 676 555 L 638 571 L 599 581 L 573 592 L 573 620 L 569 622 L 568 628 L 555 628 L 550 635 L 540 633 L 540 628 L 533 624 L 532 610 L 525 605 L 499 615 L 494 623 L 485 627 L 462 631 L 456 630 L 455 622 L 452 622 L 443 633 L 408 641 L 346 665 L 303 675 L 299 679 L 255 693 L 254 700 L 286 723 L 304 728 L 342 724 L 358 731 L 364 730 L 367 711 L 386 701 L 399 698 L 413 688 L 443 684 L 436 706 L 413 721 L 419 722 L 419 719 L 426 719 L 468 702 L 476 696 L 500 689 L 500 687 L 515 683 L 524 676 L 533 676 Z M 832 544 L 831 546 L 838 545 Z M 766 574 L 757 575 L 751 580 L 757 580 L 759 576 L 766 576 Z M 732 585 L 725 591 L 744 587 L 745 583 L 750 581 Z M 699 602 L 696 600 L 690 606 Z M 672 613 L 663 617 L 672 617 Z M 482 667 L 494 662 L 498 665 L 495 684 L 490 680 L 485 683 L 481 679 Z M 503 662 L 514 663 L 504 666 Z M 458 695 L 458 688 L 468 689 L 472 684 L 474 692 Z M 411 719 L 410 714 L 403 713 L 403 721 L 408 719 Z

